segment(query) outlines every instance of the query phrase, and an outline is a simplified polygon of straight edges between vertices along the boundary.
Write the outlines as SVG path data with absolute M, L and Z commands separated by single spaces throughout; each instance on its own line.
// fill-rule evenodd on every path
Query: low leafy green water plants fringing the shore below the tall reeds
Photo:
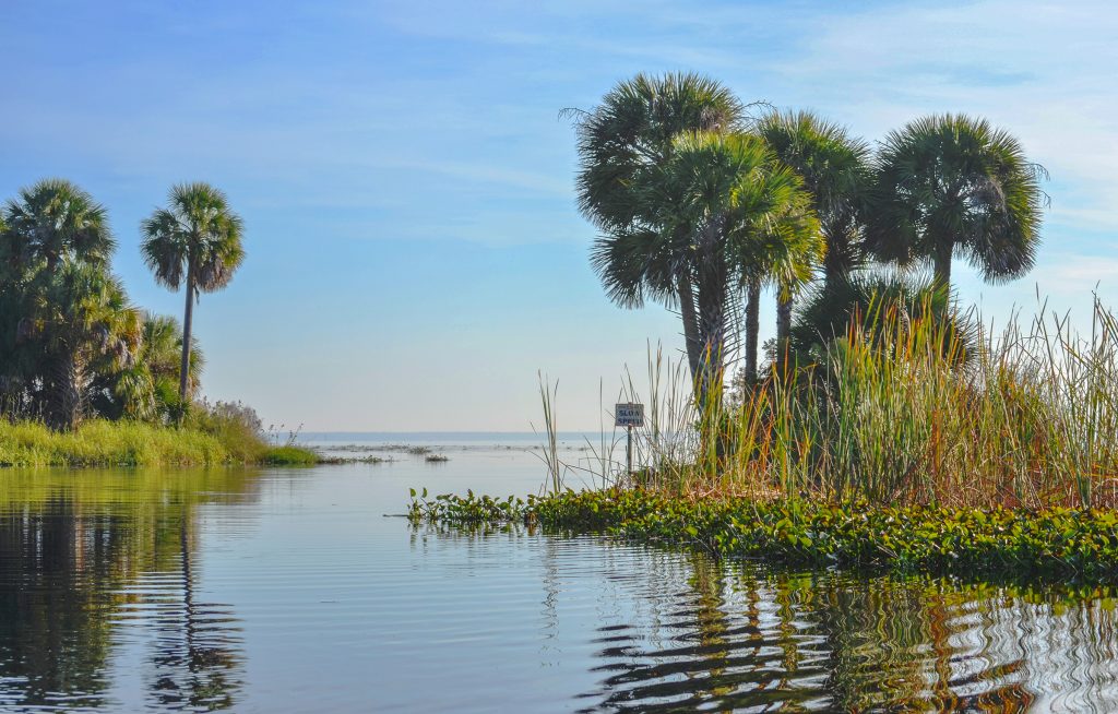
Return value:
M 691 499 L 641 488 L 493 498 L 413 493 L 409 517 L 456 526 L 523 523 L 798 567 L 1118 583 L 1118 513 Z

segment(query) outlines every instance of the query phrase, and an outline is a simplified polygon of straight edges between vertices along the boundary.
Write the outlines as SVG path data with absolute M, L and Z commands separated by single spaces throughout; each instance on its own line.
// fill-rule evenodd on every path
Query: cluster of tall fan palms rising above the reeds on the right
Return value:
M 925 289 L 942 296 L 953 258 L 989 282 L 1034 261 L 1043 169 L 984 120 L 923 117 L 873 151 L 812 113 L 745 105 L 695 74 L 637 75 L 577 117 L 579 208 L 599 230 L 594 268 L 617 304 L 679 311 L 701 401 L 723 377 L 739 321 L 742 371 L 758 380 L 766 286 L 777 295 L 773 368 L 784 374 L 794 301 L 808 288 L 841 312 L 882 264 L 902 276 L 930 265 Z

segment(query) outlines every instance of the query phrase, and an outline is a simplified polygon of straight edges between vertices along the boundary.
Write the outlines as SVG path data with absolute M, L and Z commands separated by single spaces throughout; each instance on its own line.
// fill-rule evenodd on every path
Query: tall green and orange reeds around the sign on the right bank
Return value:
M 650 352 L 635 479 L 755 498 L 1118 505 L 1112 312 L 1096 302 L 1091 331 L 1080 335 L 1043 306 L 1001 331 L 975 320 L 968 334 L 931 311 L 873 311 L 818 363 L 737 400 L 716 393 L 701 408 L 684 365 Z M 623 392 L 643 401 L 631 378 Z M 627 477 L 612 469 L 614 483 Z

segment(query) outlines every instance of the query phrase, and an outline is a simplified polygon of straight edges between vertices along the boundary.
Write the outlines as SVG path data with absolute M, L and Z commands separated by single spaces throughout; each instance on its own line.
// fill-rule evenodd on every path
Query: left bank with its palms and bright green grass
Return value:
M 129 299 L 108 211 L 80 187 L 45 179 L 0 206 L 0 466 L 318 463 L 201 397 L 195 305 L 245 257 L 225 193 L 176 185 L 140 228 L 157 283 L 186 294 L 181 324 Z

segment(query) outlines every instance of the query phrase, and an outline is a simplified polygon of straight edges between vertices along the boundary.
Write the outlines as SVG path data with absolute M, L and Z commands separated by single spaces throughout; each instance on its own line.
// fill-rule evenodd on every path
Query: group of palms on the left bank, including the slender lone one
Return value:
M 106 209 L 48 179 L 0 210 L 0 413 L 60 430 L 84 417 L 171 422 L 198 388 L 191 336 L 199 293 L 220 289 L 244 258 L 241 222 L 224 193 L 176 185 L 141 226 L 157 282 L 183 287 L 183 329 L 133 306 L 112 273 Z

